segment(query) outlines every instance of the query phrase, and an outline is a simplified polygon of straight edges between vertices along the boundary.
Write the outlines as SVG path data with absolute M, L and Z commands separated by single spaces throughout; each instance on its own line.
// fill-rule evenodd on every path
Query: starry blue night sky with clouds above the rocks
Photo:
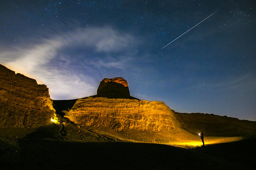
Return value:
M 0 0 L 0 64 L 54 100 L 121 76 L 139 99 L 256 121 L 256 1 Z

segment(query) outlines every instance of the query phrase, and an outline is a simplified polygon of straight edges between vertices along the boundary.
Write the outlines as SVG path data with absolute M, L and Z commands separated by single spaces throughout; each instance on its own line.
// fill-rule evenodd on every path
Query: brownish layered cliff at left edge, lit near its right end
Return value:
M 54 114 L 46 85 L 0 65 L 0 127 L 40 127 Z

